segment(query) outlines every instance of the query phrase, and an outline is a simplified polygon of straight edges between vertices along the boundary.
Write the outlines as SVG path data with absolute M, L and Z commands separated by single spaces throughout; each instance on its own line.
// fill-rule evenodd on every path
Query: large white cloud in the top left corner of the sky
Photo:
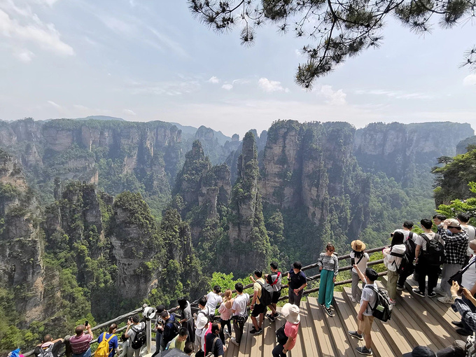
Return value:
M 52 50 L 57 55 L 74 55 L 73 48 L 62 41 L 55 25 L 42 22 L 29 6 L 20 8 L 11 1 L 0 2 L 0 37 L 16 47 L 34 43 L 44 50 Z M 25 62 L 31 59 L 31 55 L 31 51 L 24 51 L 17 57 Z

